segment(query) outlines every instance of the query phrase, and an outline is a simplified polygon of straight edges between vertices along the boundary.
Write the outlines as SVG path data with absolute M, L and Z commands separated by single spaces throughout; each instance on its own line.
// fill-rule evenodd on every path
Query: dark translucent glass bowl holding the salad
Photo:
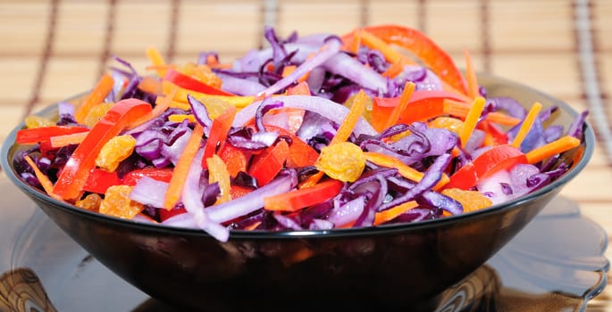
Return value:
M 552 124 L 577 113 L 566 103 L 502 78 L 481 75 L 489 96 L 558 105 Z M 51 115 L 51 106 L 42 115 Z M 25 184 L 13 168 L 23 147 L 15 133 L 2 147 L 2 166 L 13 184 L 96 259 L 158 300 L 211 311 L 403 308 L 427 310 L 437 295 L 480 267 L 512 239 L 587 165 L 595 138 L 561 162 L 572 168 L 558 180 L 514 201 L 410 224 L 320 231 L 233 231 L 218 242 L 202 231 L 111 218 Z

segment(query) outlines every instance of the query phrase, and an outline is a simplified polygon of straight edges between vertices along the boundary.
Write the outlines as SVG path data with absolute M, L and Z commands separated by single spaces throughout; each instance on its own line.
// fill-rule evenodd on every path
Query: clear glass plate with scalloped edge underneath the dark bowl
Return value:
M 173 310 L 93 259 L 4 177 L 0 198 L 0 310 Z M 605 231 L 558 196 L 495 257 L 444 291 L 437 311 L 583 311 L 606 285 L 607 247 Z

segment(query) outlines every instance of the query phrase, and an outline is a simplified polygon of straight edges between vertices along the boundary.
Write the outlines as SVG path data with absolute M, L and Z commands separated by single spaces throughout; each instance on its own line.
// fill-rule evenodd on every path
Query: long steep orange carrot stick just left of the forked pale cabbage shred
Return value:
M 189 173 L 189 167 L 194 157 L 196 157 L 197 150 L 200 147 L 202 141 L 202 135 L 204 135 L 204 127 L 200 124 L 196 124 L 193 132 L 189 136 L 189 140 L 183 151 L 180 153 L 179 160 L 177 160 L 174 171 L 172 172 L 172 178 L 168 185 L 168 190 L 165 193 L 163 200 L 163 208 L 171 210 L 174 208 L 177 202 L 180 200 L 180 193 L 183 190 L 185 180 Z

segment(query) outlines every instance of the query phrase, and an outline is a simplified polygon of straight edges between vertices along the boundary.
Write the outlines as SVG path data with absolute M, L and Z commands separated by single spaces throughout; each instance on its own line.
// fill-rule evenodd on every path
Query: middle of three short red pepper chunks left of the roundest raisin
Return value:
M 285 140 L 280 140 L 257 155 L 248 169 L 248 174 L 256 178 L 258 186 L 267 185 L 281 172 L 287 157 L 289 157 L 289 144 Z

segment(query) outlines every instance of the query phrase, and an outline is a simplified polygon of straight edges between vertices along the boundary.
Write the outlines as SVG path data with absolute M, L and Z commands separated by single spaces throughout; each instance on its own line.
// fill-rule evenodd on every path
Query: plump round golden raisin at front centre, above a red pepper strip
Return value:
M 331 144 L 321 149 L 314 166 L 336 180 L 354 182 L 364 171 L 365 154 L 350 142 Z

